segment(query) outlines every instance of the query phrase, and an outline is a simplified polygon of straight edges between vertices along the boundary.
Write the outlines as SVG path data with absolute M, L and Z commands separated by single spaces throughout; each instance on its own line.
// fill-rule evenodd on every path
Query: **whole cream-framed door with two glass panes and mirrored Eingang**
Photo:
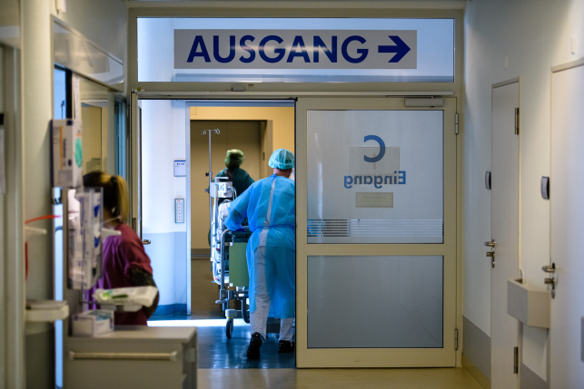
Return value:
M 455 99 L 299 99 L 299 367 L 455 365 Z

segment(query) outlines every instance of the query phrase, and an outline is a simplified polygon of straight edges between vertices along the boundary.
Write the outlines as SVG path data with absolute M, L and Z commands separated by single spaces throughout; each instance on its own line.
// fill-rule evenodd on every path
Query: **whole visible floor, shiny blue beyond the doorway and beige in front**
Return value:
M 209 316 L 171 316 L 184 325 L 201 324 Z M 224 318 L 213 317 L 214 320 Z M 180 325 L 180 323 L 179 323 Z M 232 339 L 224 326 L 197 326 L 199 389 L 480 389 L 462 368 L 431 369 L 296 369 L 293 353 L 278 354 L 278 336 L 268 335 L 262 344 L 262 357 L 245 357 L 250 326 L 234 326 Z

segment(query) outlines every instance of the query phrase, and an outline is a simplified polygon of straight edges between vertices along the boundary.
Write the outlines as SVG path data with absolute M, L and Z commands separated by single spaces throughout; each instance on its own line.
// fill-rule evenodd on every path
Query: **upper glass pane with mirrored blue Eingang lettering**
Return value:
M 442 111 L 309 111 L 308 243 L 442 243 Z

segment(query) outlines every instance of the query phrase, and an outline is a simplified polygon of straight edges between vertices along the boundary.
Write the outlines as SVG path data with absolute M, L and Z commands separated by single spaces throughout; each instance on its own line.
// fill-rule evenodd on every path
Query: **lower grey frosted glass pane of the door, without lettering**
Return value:
M 308 347 L 441 348 L 442 260 L 309 257 Z

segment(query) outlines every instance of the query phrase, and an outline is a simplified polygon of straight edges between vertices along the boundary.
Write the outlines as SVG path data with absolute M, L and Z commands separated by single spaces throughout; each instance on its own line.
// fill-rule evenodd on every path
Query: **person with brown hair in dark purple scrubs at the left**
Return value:
M 104 190 L 104 227 L 120 231 L 122 235 L 106 238 L 103 245 L 103 277 L 97 287 L 156 287 L 150 258 L 142 240 L 134 229 L 125 224 L 128 219 L 128 187 L 124 178 L 103 171 L 84 175 L 84 186 Z M 146 326 L 146 321 L 158 306 L 159 295 L 152 306 L 143 306 L 137 312 L 115 312 L 115 326 Z

